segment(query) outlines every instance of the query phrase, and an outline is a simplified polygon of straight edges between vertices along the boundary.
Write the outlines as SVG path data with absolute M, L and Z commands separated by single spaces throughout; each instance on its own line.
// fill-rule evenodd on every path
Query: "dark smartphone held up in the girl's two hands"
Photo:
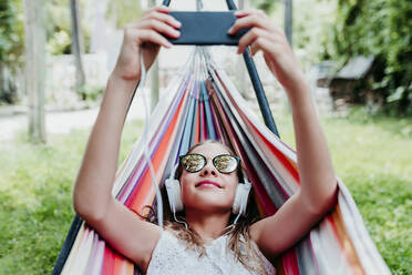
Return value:
M 233 11 L 172 11 L 169 14 L 182 23 L 181 37 L 167 38 L 173 44 L 237 45 L 248 31 L 244 29 L 236 35 L 227 34 L 236 21 Z

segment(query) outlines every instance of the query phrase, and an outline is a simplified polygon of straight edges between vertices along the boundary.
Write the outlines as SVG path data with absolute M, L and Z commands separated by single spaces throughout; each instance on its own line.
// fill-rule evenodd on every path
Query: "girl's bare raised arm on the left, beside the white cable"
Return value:
M 159 45 L 171 47 L 159 33 L 178 35 L 175 28 L 179 28 L 179 23 L 168 12 L 165 7 L 156 7 L 146 11 L 138 22 L 125 28 L 121 53 L 109 78 L 73 194 L 76 213 L 143 271 L 159 231 L 119 203 L 112 196 L 112 189 L 126 110 L 141 78 L 140 51 L 143 51 L 148 69 Z

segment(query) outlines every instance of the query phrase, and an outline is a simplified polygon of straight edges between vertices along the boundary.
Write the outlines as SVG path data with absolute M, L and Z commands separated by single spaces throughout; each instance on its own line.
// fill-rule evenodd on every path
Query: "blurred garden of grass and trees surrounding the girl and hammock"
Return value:
M 412 271 L 412 3 L 239 0 L 262 9 L 298 57 L 348 185 L 393 274 Z M 0 274 L 50 273 L 74 215 L 72 186 L 123 39 L 155 0 L 0 0 Z M 195 0 L 172 1 L 196 10 Z M 227 10 L 207 0 L 204 10 Z M 216 62 L 259 114 L 236 48 Z M 146 82 L 152 108 L 192 47 L 162 50 Z M 285 93 L 255 57 L 280 136 L 295 146 Z M 143 129 L 135 101 L 121 160 Z

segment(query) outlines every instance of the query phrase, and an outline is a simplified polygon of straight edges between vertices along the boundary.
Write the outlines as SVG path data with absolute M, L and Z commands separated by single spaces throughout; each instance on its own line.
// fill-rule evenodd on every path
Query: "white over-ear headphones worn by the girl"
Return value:
M 177 167 L 178 165 L 176 165 L 172 171 L 171 177 L 166 179 L 165 181 L 168 203 L 174 214 L 176 214 L 176 212 L 183 211 L 184 208 L 181 183 L 178 180 L 175 179 Z M 245 175 L 244 177 L 245 183 L 239 183 L 236 187 L 235 201 L 234 205 L 231 206 L 231 212 L 234 214 L 243 216 L 246 214 L 247 198 L 251 189 L 251 184 L 246 180 Z

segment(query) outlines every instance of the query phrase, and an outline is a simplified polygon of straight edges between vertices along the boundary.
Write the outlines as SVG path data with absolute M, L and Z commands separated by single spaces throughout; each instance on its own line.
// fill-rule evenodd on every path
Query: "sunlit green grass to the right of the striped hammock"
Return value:
M 290 115 L 277 118 L 282 140 L 295 147 Z M 350 190 L 365 226 L 391 272 L 412 273 L 412 118 L 323 118 L 334 170 Z

